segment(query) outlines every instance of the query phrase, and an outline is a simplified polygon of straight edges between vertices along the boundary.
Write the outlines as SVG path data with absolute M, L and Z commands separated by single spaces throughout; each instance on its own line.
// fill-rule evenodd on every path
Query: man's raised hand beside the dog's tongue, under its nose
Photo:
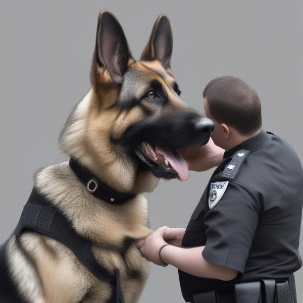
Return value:
M 225 150 L 215 145 L 212 138 L 210 138 L 206 145 L 181 148 L 178 151 L 187 162 L 189 170 L 201 172 L 218 166 L 223 160 Z

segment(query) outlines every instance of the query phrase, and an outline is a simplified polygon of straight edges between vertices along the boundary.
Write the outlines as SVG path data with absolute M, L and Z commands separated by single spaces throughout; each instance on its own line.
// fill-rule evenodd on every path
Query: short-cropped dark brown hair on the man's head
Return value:
M 243 80 L 233 76 L 210 81 L 204 91 L 210 114 L 221 123 L 247 135 L 262 126 L 261 103 L 257 91 Z

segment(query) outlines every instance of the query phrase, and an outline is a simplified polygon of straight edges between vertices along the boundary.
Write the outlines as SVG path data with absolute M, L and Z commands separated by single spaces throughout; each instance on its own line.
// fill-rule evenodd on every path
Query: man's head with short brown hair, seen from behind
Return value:
M 230 149 L 262 128 L 261 104 L 256 90 L 233 76 L 210 81 L 203 92 L 207 117 L 215 123 L 214 143 Z

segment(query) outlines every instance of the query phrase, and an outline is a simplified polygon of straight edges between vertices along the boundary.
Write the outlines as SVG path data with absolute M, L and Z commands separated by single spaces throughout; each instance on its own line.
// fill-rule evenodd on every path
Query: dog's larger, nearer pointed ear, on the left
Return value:
M 132 56 L 122 26 L 108 10 L 99 13 L 95 54 L 97 65 L 119 83 Z

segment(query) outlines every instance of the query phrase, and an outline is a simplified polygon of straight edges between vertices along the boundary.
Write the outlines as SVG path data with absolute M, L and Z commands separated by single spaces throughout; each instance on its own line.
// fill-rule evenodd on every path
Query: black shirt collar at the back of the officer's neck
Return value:
M 232 147 L 229 150 L 225 150 L 223 159 L 231 157 L 239 149 L 246 149 L 250 152 L 255 151 L 265 146 L 271 140 L 271 136 L 263 129 L 255 136 L 248 138 L 240 144 Z

